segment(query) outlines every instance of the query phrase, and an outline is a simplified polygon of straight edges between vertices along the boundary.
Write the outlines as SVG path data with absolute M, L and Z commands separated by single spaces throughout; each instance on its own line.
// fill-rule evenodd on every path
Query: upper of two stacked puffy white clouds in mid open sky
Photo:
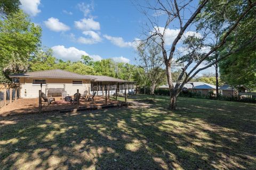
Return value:
M 92 18 L 84 18 L 80 21 L 75 21 L 75 27 L 83 31 L 100 30 L 100 23 L 94 21 Z

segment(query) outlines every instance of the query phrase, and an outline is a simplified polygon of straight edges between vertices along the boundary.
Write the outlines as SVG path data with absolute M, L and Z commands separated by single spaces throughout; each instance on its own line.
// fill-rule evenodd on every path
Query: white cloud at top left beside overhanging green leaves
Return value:
M 31 16 L 36 16 L 41 10 L 38 9 L 40 0 L 20 0 L 20 8 Z

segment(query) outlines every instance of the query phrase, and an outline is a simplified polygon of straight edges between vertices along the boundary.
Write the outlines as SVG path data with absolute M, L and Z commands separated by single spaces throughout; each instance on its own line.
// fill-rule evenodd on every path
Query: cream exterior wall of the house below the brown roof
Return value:
M 45 78 L 20 78 L 20 97 L 21 98 L 37 98 L 40 84 L 33 84 L 33 79 L 45 79 Z M 73 96 L 77 89 L 79 93 L 83 94 L 85 90 L 89 90 L 90 80 L 82 80 L 82 85 L 73 85 L 73 79 L 45 79 L 47 86 L 43 85 L 42 92 L 46 92 L 46 88 L 64 88 L 67 94 Z M 74 79 L 77 80 L 77 79 Z M 26 95 L 25 95 L 26 90 Z

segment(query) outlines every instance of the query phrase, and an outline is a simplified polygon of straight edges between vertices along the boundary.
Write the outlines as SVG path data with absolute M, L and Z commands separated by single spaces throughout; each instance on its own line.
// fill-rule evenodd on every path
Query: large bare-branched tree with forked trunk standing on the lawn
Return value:
M 149 1 L 148 4 L 145 8 L 142 7 L 145 5 L 140 5 L 142 12 L 147 15 L 147 19 L 149 20 L 149 23 L 145 24 L 146 31 L 143 32 L 143 35 L 146 38 L 143 42 L 145 44 L 156 43 L 162 49 L 162 57 L 170 89 L 170 109 L 176 108 L 177 98 L 183 86 L 200 71 L 255 43 L 255 36 L 242 38 L 240 43 L 229 39 L 236 33 L 236 29 L 241 27 L 241 24 L 245 24 L 242 21 L 251 13 L 255 13 L 256 2 L 254 1 L 234 0 L 226 2 L 223 0 L 202 0 L 199 1 L 197 6 L 192 4 L 191 1 L 177 2 L 176 0 L 171 2 L 157 1 L 157 3 L 151 3 Z M 193 10 L 187 7 L 189 5 L 193 6 Z M 154 17 L 148 11 L 154 13 L 161 12 L 163 13 L 163 17 L 160 20 L 159 16 Z M 166 36 L 170 36 L 168 34 L 170 32 L 170 25 L 177 25 L 178 27 L 177 35 L 171 38 L 171 43 L 166 42 L 167 40 L 170 41 L 170 37 L 166 40 Z M 218 27 L 210 27 L 211 25 L 218 25 Z M 197 28 L 197 32 L 193 33 L 192 31 L 195 31 L 193 28 Z M 220 38 L 213 38 L 215 28 L 219 29 Z M 246 33 L 243 30 L 241 32 Z M 198 36 L 198 33 L 200 36 Z M 190 42 L 183 45 L 178 44 L 184 37 L 186 38 L 188 36 L 191 37 Z M 203 43 L 202 46 L 201 42 Z M 210 47 L 207 52 L 205 52 L 205 46 Z M 228 50 L 222 51 L 225 46 L 229 46 L 227 48 Z M 186 47 L 190 48 L 191 51 L 187 57 L 183 58 L 185 60 L 180 60 L 182 63 L 181 73 L 178 83 L 174 86 L 172 61 L 174 58 L 179 58 L 177 55 L 179 49 Z M 217 51 L 223 53 L 209 60 Z M 205 65 L 202 66 L 202 64 Z

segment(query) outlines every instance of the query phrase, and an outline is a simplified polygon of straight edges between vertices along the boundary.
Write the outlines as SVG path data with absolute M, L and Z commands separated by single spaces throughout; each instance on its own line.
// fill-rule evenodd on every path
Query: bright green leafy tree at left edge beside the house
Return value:
M 0 25 L 0 81 L 10 81 L 7 75 L 23 70 L 14 65 L 28 65 L 29 58 L 37 52 L 42 30 L 30 22 L 28 15 L 22 11 L 12 14 L 9 19 L 0 20 Z M 6 74 L 4 70 L 11 72 Z

